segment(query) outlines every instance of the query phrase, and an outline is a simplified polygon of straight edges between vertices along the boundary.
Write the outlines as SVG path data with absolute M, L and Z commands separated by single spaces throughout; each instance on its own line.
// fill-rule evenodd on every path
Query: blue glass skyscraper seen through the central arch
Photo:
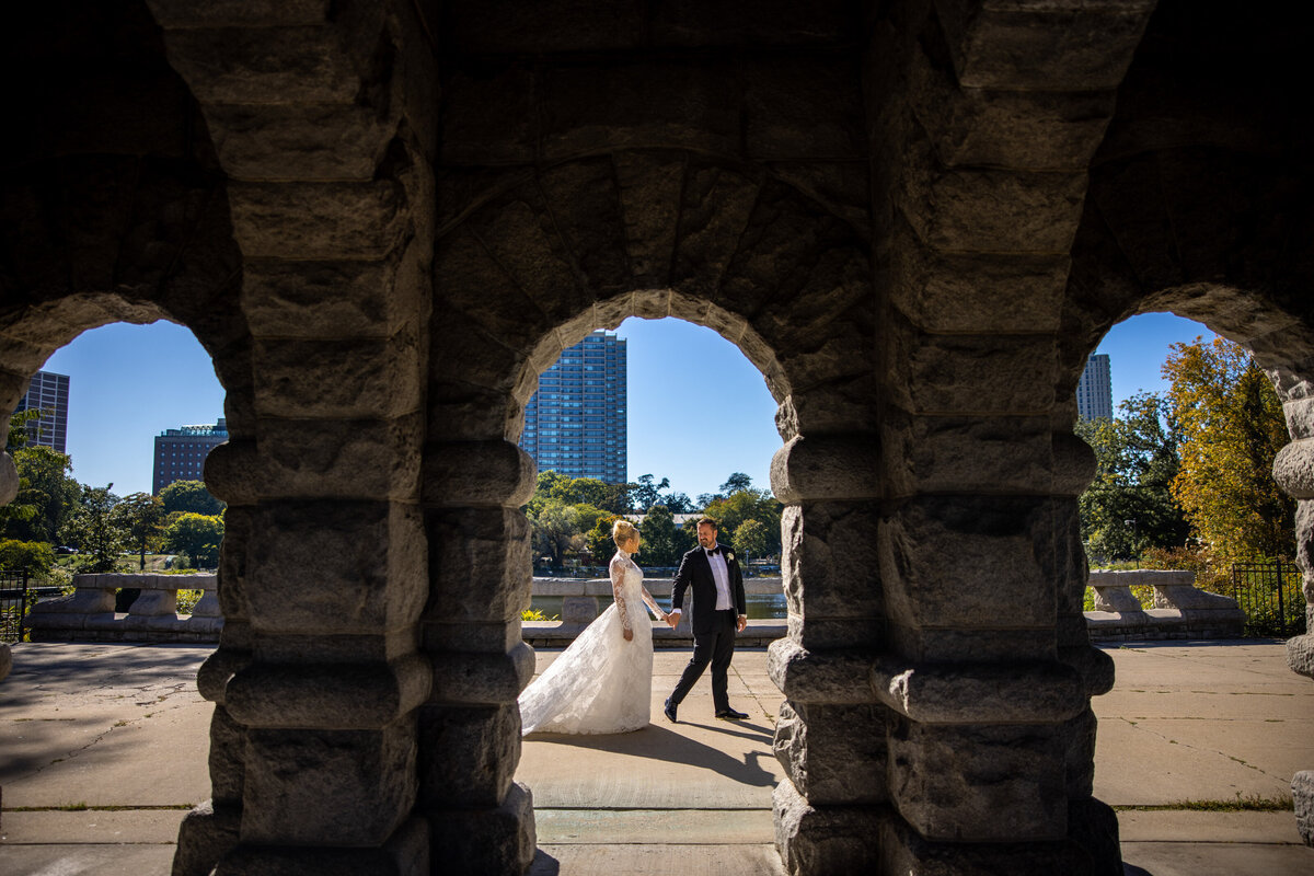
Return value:
M 624 483 L 625 437 L 625 340 L 595 331 L 539 376 L 520 447 L 540 471 Z

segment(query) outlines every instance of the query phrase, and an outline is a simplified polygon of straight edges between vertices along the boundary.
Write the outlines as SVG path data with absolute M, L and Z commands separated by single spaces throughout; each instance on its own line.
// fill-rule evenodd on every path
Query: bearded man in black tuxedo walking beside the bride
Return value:
M 735 633 L 748 626 L 748 615 L 744 609 L 744 575 L 740 574 L 738 562 L 731 549 L 716 544 L 716 521 L 711 517 L 698 521 L 698 546 L 679 561 L 675 587 L 670 596 L 671 611 L 666 616 L 666 623 L 673 628 L 679 624 L 685 591 L 689 587 L 694 588 L 694 617 L 690 624 L 694 628 L 694 657 L 679 676 L 675 690 L 666 697 L 662 712 L 674 724 L 675 709 L 711 663 L 712 704 L 716 707 L 716 717 L 731 721 L 746 718 L 748 714 L 731 708 L 727 693 L 731 658 L 735 655 Z

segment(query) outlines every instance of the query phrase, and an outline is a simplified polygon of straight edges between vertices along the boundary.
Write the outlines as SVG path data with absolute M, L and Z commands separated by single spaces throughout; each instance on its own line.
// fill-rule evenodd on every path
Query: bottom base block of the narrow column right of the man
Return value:
M 775 848 L 791 876 L 878 872 L 883 808 L 813 806 L 784 780 L 771 795 L 771 812 Z

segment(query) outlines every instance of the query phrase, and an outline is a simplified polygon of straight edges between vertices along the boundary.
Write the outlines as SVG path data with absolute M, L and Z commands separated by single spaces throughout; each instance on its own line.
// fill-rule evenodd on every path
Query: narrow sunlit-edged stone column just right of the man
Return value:
M 774 742 L 787 776 L 774 795 L 775 843 L 791 873 L 859 872 L 879 860 L 892 716 L 869 682 L 884 616 L 878 465 L 870 435 L 795 437 L 771 461 L 771 487 L 786 503 L 790 630 L 767 658 L 786 696 Z

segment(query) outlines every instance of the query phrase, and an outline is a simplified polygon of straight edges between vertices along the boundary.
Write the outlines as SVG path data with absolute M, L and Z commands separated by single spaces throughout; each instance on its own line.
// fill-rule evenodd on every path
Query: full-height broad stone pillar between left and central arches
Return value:
M 432 46 L 407 3 L 148 5 L 229 177 L 254 376 L 206 464 L 229 502 L 198 679 L 214 799 L 175 872 L 427 872 Z

